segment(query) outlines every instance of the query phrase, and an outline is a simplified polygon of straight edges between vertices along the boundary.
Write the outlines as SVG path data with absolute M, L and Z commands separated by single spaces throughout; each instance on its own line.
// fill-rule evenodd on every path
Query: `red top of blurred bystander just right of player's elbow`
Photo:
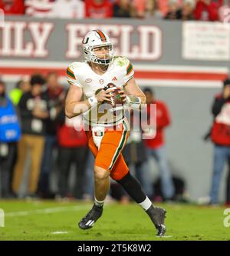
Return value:
M 156 111 L 150 112 L 150 105 L 147 105 L 148 119 L 155 118 L 156 116 L 156 137 L 146 139 L 147 148 L 159 148 L 164 145 L 164 133 L 163 130 L 166 126 L 170 125 L 171 118 L 169 115 L 169 110 L 166 107 L 166 104 L 163 101 L 153 101 L 153 104 L 156 104 Z

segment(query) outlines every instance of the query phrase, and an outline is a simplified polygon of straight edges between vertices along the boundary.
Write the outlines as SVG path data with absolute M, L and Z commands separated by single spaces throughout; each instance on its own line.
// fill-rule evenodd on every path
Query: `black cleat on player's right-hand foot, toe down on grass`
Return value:
M 159 207 L 151 206 L 147 211 L 149 217 L 153 221 L 155 228 L 157 230 L 157 236 L 163 237 L 166 233 L 166 226 L 165 226 L 165 218 L 166 218 L 166 210 Z

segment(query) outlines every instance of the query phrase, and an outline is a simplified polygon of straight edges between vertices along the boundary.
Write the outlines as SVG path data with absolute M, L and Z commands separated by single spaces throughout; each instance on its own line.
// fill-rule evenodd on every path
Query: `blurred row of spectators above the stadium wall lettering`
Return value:
M 229 0 L 0 0 L 5 15 L 229 21 Z M 61 11 L 60 11 L 61 10 Z

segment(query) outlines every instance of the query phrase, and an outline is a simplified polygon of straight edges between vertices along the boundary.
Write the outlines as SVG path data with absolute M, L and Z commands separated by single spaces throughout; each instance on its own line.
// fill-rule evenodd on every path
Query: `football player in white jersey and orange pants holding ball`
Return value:
M 113 44 L 105 32 L 94 30 L 82 41 L 85 62 L 74 62 L 67 67 L 67 93 L 65 113 L 68 118 L 84 115 L 90 150 L 94 154 L 94 206 L 78 223 L 82 229 L 92 228 L 103 212 L 104 200 L 110 188 L 110 177 L 117 181 L 146 211 L 156 227 L 157 235 L 166 232 L 166 211 L 153 206 L 126 166 L 121 153 L 129 136 L 129 124 L 123 111 L 101 108 L 109 106 L 113 84 L 120 88 L 124 105 L 140 108 L 146 104 L 143 91 L 136 85 L 134 71 L 125 57 L 113 56 Z

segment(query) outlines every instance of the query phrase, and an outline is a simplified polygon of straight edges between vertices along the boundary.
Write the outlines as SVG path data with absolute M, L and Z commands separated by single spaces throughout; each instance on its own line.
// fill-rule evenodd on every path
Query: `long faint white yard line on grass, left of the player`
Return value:
M 19 216 L 28 216 L 34 214 L 49 214 L 54 212 L 62 212 L 62 211 L 81 211 L 90 208 L 90 204 L 81 205 L 81 206 L 64 206 L 64 207 L 54 207 L 54 208 L 44 208 L 38 210 L 31 211 L 12 211 L 5 212 L 5 217 L 19 217 Z

